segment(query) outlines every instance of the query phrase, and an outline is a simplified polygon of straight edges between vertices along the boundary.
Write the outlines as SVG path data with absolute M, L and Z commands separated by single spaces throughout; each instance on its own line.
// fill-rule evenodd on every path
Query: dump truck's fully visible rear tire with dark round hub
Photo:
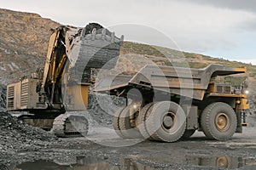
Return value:
M 183 136 L 186 127 L 186 116 L 183 108 L 172 101 L 155 103 L 148 110 L 148 121 L 145 127 L 151 139 L 175 142 Z

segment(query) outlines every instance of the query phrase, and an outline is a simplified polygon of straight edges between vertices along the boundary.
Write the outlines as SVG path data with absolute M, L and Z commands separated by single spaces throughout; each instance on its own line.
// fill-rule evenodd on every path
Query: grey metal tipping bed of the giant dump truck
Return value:
M 212 77 L 244 73 L 246 68 L 208 65 L 203 69 L 146 65 L 134 76 L 109 76 L 96 83 L 97 93 L 120 94 L 125 89 L 161 91 L 202 100 Z

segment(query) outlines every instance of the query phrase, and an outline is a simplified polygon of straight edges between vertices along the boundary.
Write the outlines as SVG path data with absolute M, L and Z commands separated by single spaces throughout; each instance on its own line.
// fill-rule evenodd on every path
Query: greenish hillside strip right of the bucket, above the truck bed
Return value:
M 204 68 L 209 64 L 219 64 L 233 67 L 246 66 L 248 71 L 248 77 L 254 77 L 256 75 L 256 66 L 249 65 L 237 61 L 230 61 L 228 59 L 213 58 L 203 54 L 194 54 L 181 52 L 170 48 L 163 48 L 154 45 L 141 44 L 136 42 L 125 42 L 124 54 L 143 54 L 148 59 L 152 59 L 154 62 L 163 65 L 175 65 L 175 66 L 188 66 L 184 64 L 187 62 L 191 68 Z M 172 63 L 170 62 L 172 61 Z M 185 62 L 184 62 L 185 61 Z

